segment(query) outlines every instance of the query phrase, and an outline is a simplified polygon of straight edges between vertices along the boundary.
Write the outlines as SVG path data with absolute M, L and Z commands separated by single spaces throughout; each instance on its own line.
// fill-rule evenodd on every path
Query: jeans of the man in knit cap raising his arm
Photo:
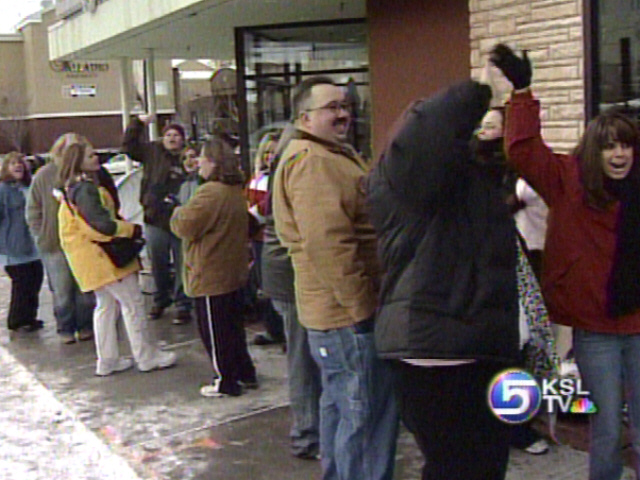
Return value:
M 178 237 L 162 228 L 144 225 L 144 235 L 151 260 L 151 274 L 156 284 L 154 305 L 166 308 L 175 301 L 178 310 L 191 310 L 192 302 L 182 288 L 182 247 Z M 171 276 L 173 257 L 174 278 Z

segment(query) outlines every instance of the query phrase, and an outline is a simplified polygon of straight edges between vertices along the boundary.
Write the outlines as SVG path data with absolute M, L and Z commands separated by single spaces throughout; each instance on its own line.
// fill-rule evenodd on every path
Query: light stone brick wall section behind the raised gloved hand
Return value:
M 469 0 L 471 68 L 477 78 L 491 47 L 529 50 L 532 88 L 545 141 L 572 149 L 585 119 L 583 0 Z

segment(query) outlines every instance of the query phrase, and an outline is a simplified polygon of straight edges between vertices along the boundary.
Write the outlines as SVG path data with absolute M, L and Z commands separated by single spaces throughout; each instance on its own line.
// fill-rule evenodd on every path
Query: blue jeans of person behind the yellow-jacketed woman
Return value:
M 64 253 L 41 252 L 40 257 L 53 296 L 53 315 L 58 333 L 73 335 L 74 332 L 93 330 L 95 296 L 80 291 Z

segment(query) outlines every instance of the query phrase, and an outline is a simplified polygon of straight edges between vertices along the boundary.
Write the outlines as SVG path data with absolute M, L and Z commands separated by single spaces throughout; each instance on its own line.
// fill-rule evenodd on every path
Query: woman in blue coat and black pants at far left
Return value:
M 11 278 L 9 330 L 32 332 L 43 327 L 36 318 L 44 269 L 25 220 L 31 174 L 24 156 L 6 155 L 0 167 L 0 264 Z

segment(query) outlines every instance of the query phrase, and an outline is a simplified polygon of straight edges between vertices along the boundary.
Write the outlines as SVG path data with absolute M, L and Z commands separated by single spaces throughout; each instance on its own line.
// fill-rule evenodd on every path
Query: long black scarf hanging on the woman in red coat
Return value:
M 605 188 L 620 201 L 616 249 L 607 282 L 607 314 L 612 318 L 640 308 L 640 182 L 634 170 L 623 180 L 606 179 Z

